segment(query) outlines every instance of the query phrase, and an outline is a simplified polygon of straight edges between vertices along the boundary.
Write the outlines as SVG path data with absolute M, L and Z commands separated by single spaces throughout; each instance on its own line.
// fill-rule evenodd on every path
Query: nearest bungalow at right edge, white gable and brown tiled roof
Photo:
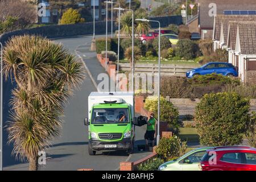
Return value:
M 256 22 L 237 23 L 235 54 L 242 82 L 256 84 Z

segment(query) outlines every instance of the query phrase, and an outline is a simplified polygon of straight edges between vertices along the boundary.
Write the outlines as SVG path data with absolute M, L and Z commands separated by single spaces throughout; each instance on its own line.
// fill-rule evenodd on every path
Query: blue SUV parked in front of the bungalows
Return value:
M 192 78 L 196 75 L 207 75 L 217 73 L 224 76 L 237 77 L 237 68 L 230 63 L 207 63 L 200 68 L 195 68 L 186 73 L 187 78 Z

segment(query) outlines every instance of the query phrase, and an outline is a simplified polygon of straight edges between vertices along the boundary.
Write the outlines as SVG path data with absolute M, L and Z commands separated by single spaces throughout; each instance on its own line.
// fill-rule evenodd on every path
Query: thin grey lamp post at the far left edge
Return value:
M 0 42 L 1 45 L 1 93 L 0 93 L 0 107 L 1 107 L 1 111 L 0 111 L 0 127 L 1 127 L 1 140 L 0 140 L 0 171 L 3 170 L 3 44 Z

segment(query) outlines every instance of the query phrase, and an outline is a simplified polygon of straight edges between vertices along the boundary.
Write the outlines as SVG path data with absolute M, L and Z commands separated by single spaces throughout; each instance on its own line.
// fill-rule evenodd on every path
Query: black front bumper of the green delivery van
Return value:
M 101 140 L 89 140 L 89 145 L 92 150 L 129 150 L 132 147 L 133 142 L 131 138 L 125 138 L 118 142 L 104 142 Z M 117 145 L 115 148 L 106 148 L 105 145 Z

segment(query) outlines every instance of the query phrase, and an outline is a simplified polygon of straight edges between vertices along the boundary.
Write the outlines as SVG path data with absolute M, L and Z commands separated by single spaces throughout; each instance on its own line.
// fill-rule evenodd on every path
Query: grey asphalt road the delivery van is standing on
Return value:
M 99 73 L 105 73 L 105 69 L 101 67 L 96 60 L 96 53 L 90 52 L 90 41 L 92 36 L 81 36 L 76 38 L 58 39 L 57 43 L 61 43 L 65 48 L 69 49 L 74 55 L 78 55 L 77 59 L 82 61 L 88 67 L 92 77 L 96 82 Z M 10 80 L 4 84 L 4 123 L 9 117 L 9 99 L 10 92 L 14 85 Z M 120 162 L 134 161 L 148 155 L 148 152 L 135 151 L 133 155 L 127 155 L 125 152 L 97 152 L 96 156 L 88 155 L 88 128 L 84 126 L 84 118 L 88 117 L 88 96 L 90 92 L 97 91 L 92 79 L 86 73 L 86 78 L 81 88 L 75 91 L 74 95 L 69 99 L 69 104 L 64 109 L 63 128 L 61 135 L 52 142 L 52 146 L 48 148 L 46 165 L 39 166 L 40 170 L 77 170 L 80 168 L 93 168 L 94 170 L 117 170 Z M 141 144 L 144 142 L 143 134 L 145 128 L 136 128 L 136 142 Z M 27 170 L 28 164 L 15 160 L 15 156 L 11 155 L 13 147 L 7 144 L 7 134 L 4 133 L 4 150 L 3 150 L 3 169 L 4 170 Z

